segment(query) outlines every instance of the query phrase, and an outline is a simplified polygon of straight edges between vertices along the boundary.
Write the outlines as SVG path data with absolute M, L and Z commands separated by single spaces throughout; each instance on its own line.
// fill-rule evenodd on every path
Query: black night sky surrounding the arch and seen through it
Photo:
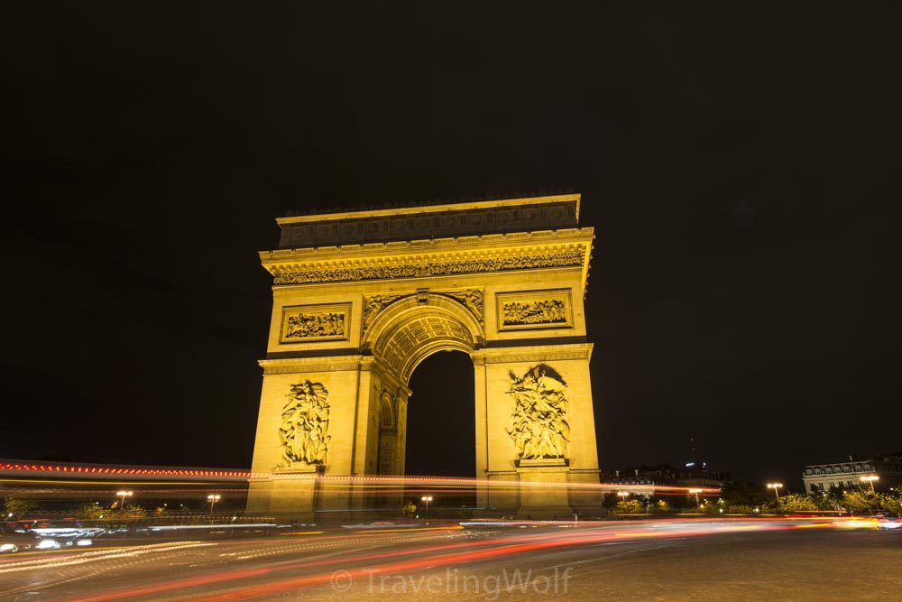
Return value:
M 0 457 L 248 468 L 275 218 L 557 191 L 603 469 L 902 449 L 892 3 L 485 4 L 5 6 Z M 467 361 L 410 469 L 472 474 Z

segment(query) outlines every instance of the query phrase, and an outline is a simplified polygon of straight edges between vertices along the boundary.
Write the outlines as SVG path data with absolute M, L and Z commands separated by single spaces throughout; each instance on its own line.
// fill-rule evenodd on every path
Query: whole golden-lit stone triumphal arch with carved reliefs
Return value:
M 299 522 L 400 510 L 410 375 L 473 360 L 477 507 L 597 509 L 584 292 L 594 239 L 577 194 L 278 219 L 247 512 Z M 494 486 L 494 485 L 499 486 Z

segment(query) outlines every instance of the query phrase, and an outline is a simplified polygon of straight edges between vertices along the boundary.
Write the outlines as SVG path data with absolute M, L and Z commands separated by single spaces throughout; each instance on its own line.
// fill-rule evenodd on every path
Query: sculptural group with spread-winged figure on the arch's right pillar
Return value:
M 520 453 L 520 459 L 566 458 L 570 444 L 570 425 L 566 421 L 566 383 L 554 368 L 533 366 L 526 374 L 510 373 L 514 399 L 508 434 Z

